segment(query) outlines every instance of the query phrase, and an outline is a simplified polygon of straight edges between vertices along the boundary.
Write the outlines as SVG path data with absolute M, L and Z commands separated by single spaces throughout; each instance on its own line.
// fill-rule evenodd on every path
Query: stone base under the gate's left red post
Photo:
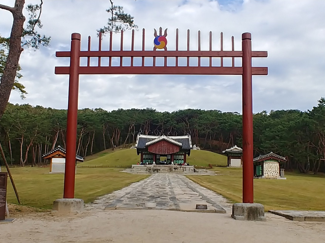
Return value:
M 53 213 L 78 214 L 84 211 L 84 200 L 78 198 L 60 198 L 53 202 Z

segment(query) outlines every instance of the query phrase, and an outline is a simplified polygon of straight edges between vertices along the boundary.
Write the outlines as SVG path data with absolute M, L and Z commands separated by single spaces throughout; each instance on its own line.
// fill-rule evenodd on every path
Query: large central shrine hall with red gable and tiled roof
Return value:
M 152 136 L 138 134 L 136 152 L 141 154 L 141 164 L 187 164 L 186 155 L 192 149 L 190 135 L 186 136 Z M 166 157 L 166 161 L 160 161 Z

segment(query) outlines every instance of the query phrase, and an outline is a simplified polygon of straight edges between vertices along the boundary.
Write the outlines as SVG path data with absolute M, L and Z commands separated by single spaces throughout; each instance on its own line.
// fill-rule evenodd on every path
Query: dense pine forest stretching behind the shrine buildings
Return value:
M 8 104 L 0 120 L 0 142 L 8 163 L 42 163 L 41 155 L 65 147 L 67 110 Z M 325 172 L 325 98 L 308 111 L 254 114 L 254 156 L 270 151 L 288 159 L 287 170 Z M 91 155 L 149 135 L 191 134 L 192 143 L 221 153 L 241 146 L 241 115 L 220 110 L 82 109 L 78 112 L 77 154 Z

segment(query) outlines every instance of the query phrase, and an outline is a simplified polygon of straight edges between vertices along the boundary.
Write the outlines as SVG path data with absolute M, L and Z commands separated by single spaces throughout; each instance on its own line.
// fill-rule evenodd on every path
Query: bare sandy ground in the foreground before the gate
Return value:
M 0 242 L 325 242 L 325 223 L 295 222 L 266 213 L 266 222 L 227 214 L 165 210 L 91 210 L 81 215 L 48 212 L 0 224 Z

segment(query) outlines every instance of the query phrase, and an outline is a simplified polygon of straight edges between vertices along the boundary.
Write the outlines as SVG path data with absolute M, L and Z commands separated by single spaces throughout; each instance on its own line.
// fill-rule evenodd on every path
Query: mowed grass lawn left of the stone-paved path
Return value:
M 5 170 L 4 170 L 5 171 Z M 147 175 L 121 173 L 114 168 L 79 168 L 75 180 L 75 197 L 90 202 L 97 197 L 119 190 Z M 63 174 L 49 174 L 49 168 L 12 168 L 11 173 L 23 205 L 51 209 L 53 201 L 63 197 Z M 18 203 L 10 180 L 8 203 Z

